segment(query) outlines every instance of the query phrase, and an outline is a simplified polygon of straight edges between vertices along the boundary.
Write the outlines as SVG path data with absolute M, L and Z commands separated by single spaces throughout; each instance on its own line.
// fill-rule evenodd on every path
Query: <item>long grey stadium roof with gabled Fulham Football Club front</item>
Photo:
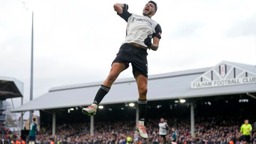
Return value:
M 13 112 L 59 109 L 91 105 L 102 82 L 53 87 L 48 93 L 25 103 Z M 222 61 L 210 68 L 201 68 L 148 77 L 148 101 L 207 97 L 256 92 L 256 67 Z M 134 78 L 117 80 L 101 104 L 138 100 Z

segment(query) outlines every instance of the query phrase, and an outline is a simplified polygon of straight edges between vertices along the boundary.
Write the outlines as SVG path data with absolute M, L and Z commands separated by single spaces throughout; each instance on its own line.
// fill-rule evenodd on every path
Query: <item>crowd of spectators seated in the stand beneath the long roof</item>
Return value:
M 57 126 L 55 137 L 52 137 L 51 127 L 42 127 L 37 135 L 38 143 L 127 143 L 127 138 L 132 138 L 131 143 L 159 143 L 158 121 L 148 119 L 145 125 L 149 138 L 147 141 L 140 139 L 135 131 L 135 121 L 95 122 L 94 136 L 90 136 L 89 123 L 61 124 Z M 221 117 L 197 118 L 195 121 L 195 137 L 190 134 L 189 119 L 167 119 L 170 127 L 177 131 L 177 143 L 234 143 L 241 142 L 239 127 L 242 121 Z M 253 124 L 252 124 L 253 125 Z M 167 143 L 172 143 L 172 132 L 168 129 Z M 256 144 L 256 132 L 251 134 L 252 143 Z

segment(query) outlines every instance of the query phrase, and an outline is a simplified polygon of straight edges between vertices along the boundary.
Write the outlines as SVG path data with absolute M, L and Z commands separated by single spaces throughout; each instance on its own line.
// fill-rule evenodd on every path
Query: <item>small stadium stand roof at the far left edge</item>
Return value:
M 23 97 L 23 83 L 15 78 L 0 77 L 0 100 Z

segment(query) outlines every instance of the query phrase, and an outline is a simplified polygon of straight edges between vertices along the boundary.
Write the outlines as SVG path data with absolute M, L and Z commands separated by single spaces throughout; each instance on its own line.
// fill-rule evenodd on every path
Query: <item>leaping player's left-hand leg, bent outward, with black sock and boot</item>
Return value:
M 105 95 L 109 92 L 111 85 L 116 81 L 116 78 L 119 74 L 125 69 L 125 65 L 123 63 L 113 63 L 108 77 L 102 83 L 99 91 L 95 95 L 94 101 L 91 106 L 87 108 L 83 108 L 82 112 L 89 116 L 94 116 L 96 114 L 97 108 L 101 100 L 105 97 Z

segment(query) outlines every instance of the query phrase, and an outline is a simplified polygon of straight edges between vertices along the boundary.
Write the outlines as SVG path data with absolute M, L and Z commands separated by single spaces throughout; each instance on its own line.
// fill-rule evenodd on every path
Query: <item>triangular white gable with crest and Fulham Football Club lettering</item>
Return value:
M 191 82 L 191 89 L 256 83 L 255 71 L 239 65 L 243 64 L 222 61 Z M 254 66 L 251 69 L 256 70 Z

